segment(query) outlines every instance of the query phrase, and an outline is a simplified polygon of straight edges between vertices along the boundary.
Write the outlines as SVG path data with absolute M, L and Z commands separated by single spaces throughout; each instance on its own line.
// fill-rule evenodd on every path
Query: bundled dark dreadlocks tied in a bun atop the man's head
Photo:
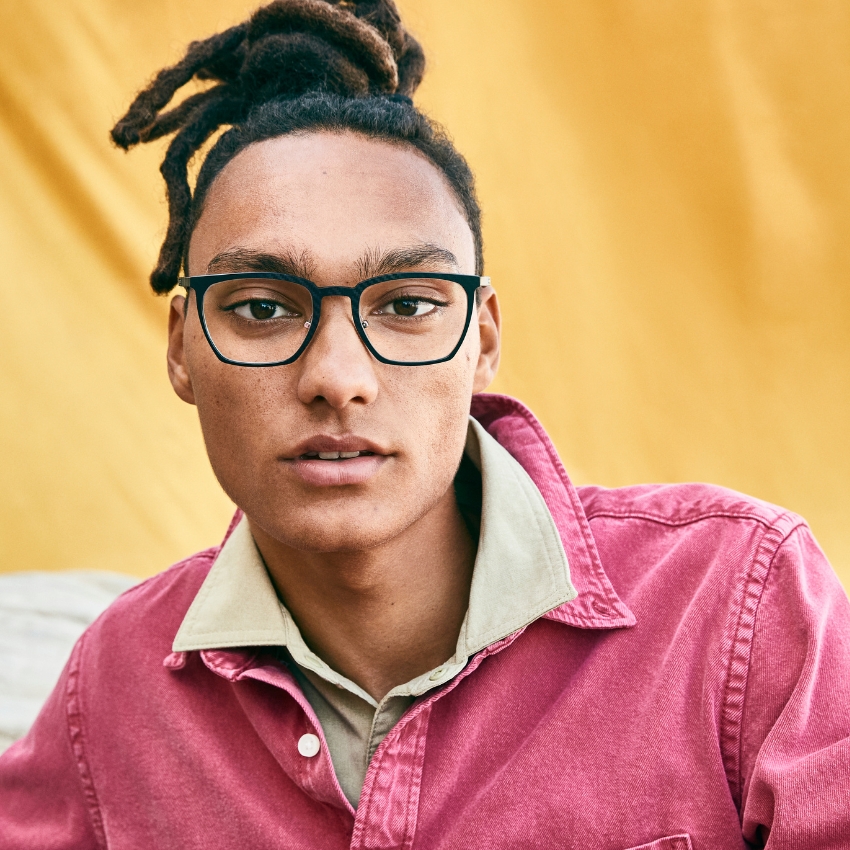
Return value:
M 192 42 L 180 62 L 139 93 L 112 138 L 127 149 L 204 115 L 238 123 L 259 103 L 309 91 L 410 97 L 424 70 L 422 48 L 393 0 L 274 0 L 245 23 Z M 193 78 L 220 85 L 163 112 Z

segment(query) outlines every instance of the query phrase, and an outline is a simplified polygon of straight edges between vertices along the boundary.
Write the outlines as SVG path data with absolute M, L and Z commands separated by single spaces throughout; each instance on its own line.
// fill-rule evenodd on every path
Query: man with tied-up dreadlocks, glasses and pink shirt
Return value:
M 482 392 L 471 178 L 392 12 L 272 4 L 117 128 L 180 127 L 154 284 L 185 264 L 169 375 L 240 510 L 77 645 L 0 760 L 3 846 L 850 846 L 846 596 L 799 517 L 576 490 Z

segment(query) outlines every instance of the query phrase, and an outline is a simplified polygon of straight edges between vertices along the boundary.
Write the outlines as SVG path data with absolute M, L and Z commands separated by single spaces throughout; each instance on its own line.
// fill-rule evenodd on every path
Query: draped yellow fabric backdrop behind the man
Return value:
M 231 506 L 146 277 L 162 147 L 107 133 L 245 0 L 6 0 L 0 569 L 148 575 Z M 496 389 L 580 482 L 703 479 L 806 515 L 850 584 L 850 6 L 406 0 L 421 103 L 479 179 Z

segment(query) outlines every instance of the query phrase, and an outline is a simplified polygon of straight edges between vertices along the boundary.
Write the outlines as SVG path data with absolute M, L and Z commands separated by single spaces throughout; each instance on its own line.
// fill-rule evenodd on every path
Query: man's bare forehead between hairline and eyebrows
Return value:
M 207 194 L 189 249 L 192 274 L 224 251 L 306 253 L 321 271 L 364 252 L 429 244 L 472 272 L 472 234 L 444 175 L 409 145 L 355 133 L 258 142 Z

